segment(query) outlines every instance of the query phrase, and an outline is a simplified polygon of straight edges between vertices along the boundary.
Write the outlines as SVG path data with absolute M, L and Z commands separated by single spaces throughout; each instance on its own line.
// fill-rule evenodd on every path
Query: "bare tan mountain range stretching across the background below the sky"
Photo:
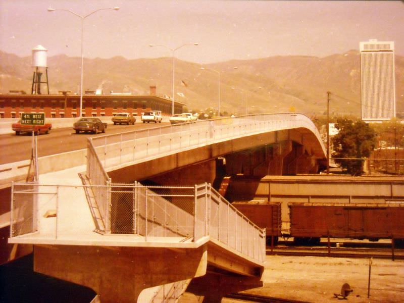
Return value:
M 0 62 L 0 93 L 29 93 L 32 58 L 0 51 Z M 81 58 L 66 55 L 47 58 L 50 93 L 79 91 L 80 62 Z M 169 57 L 84 58 L 83 75 L 85 90 L 149 94 L 149 87 L 155 85 L 157 95 L 172 96 L 173 61 Z M 186 104 L 188 111 L 217 109 L 220 100 L 221 112 L 228 114 L 295 111 L 321 116 L 327 111 L 327 91 L 331 92 L 331 116 L 360 116 L 361 111 L 361 64 L 356 50 L 323 58 L 274 56 L 204 66 L 176 59 L 174 82 L 175 100 Z M 397 55 L 395 89 L 396 111 L 403 113 L 404 57 Z

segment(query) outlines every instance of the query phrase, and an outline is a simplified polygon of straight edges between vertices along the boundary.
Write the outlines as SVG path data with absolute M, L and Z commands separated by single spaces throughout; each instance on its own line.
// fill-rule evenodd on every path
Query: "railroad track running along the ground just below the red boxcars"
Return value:
M 315 256 L 344 258 L 404 259 L 404 249 L 369 247 L 324 247 L 324 246 L 274 246 L 266 248 L 267 255 Z

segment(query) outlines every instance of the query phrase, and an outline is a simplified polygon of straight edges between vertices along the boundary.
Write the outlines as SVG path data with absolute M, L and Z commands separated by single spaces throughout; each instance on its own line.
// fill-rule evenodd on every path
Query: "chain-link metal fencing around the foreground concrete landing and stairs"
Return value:
M 34 232 L 38 233 L 37 238 L 44 239 L 77 235 L 83 218 L 72 216 L 68 210 L 71 209 L 73 188 L 84 191 L 84 187 L 102 188 L 111 197 L 111 200 L 104 200 L 107 205 L 104 216 L 112 234 L 141 235 L 149 242 L 153 241 L 152 237 L 195 242 L 210 236 L 228 249 L 256 262 L 264 262 L 265 229 L 236 210 L 210 184 L 145 187 L 140 183 L 108 186 L 15 183 L 11 237 Z M 52 212 L 44 216 L 47 210 Z M 94 226 L 85 229 L 80 232 L 89 235 Z M 105 237 L 108 235 L 104 234 Z

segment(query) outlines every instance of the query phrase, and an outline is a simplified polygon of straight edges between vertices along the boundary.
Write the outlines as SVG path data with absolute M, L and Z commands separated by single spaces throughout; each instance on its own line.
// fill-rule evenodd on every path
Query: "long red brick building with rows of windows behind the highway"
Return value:
M 140 116 L 145 111 L 162 111 L 171 116 L 172 100 L 154 95 L 95 94 L 83 95 L 83 116 L 114 116 L 133 113 Z M 185 104 L 175 102 L 174 113 L 182 113 Z M 80 112 L 80 95 L 76 94 L 0 94 L 0 118 L 18 118 L 21 113 L 45 113 L 46 118 L 74 118 Z

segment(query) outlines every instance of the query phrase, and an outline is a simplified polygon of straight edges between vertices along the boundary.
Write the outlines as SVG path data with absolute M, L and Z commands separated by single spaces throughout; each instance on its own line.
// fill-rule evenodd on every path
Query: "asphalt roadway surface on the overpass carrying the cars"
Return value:
M 135 125 L 108 124 L 105 134 L 115 134 L 125 131 L 141 130 L 153 127 L 170 125 L 170 123 L 135 123 Z M 38 137 L 38 157 L 65 153 L 77 149 L 87 148 L 89 137 L 102 136 L 90 133 L 76 134 L 72 127 L 52 129 L 48 134 Z M 31 159 L 32 136 L 23 133 L 0 135 L 0 165 Z

